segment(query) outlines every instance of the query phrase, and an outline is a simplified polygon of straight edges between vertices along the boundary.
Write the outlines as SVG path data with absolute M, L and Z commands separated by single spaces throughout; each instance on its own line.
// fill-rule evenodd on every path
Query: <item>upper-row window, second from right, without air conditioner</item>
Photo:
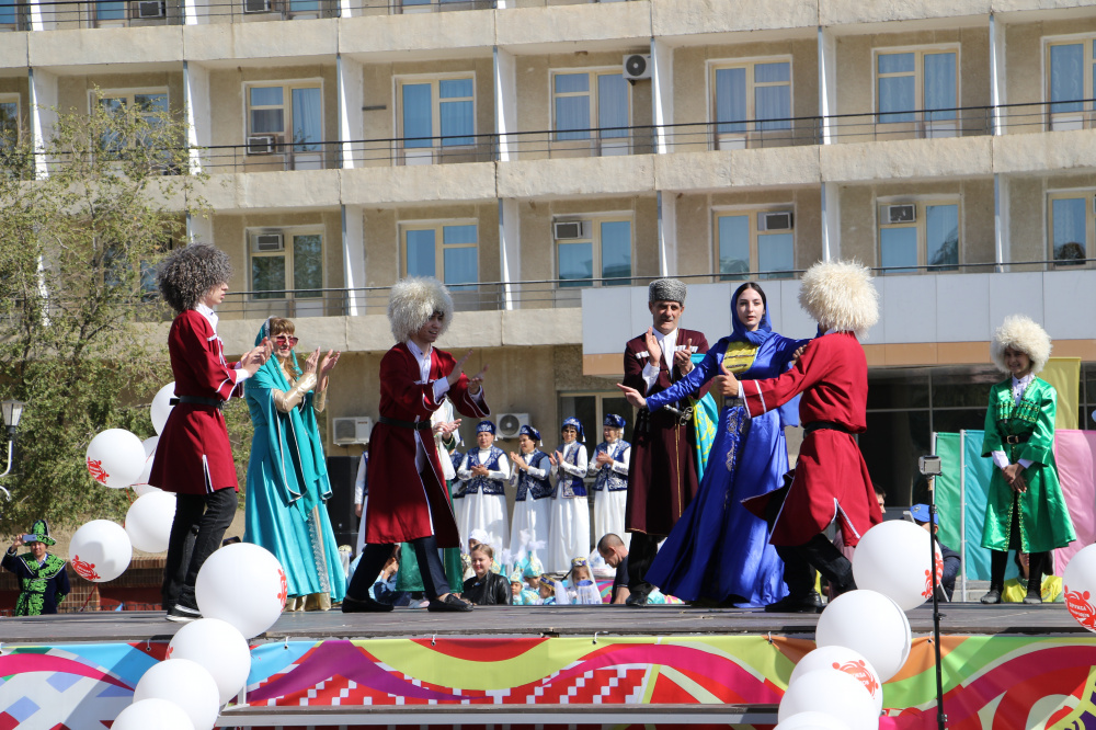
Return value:
M 912 124 L 925 137 L 958 134 L 958 49 L 876 53 L 879 124 Z

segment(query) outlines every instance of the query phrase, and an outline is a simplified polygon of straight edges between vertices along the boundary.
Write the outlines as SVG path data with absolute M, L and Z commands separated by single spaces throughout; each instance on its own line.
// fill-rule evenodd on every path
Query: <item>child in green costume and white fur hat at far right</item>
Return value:
M 1012 377 L 990 389 L 982 456 L 996 467 L 985 503 L 982 547 L 993 551 L 990 590 L 982 603 L 1001 603 L 1009 550 L 1030 555 L 1024 603 L 1042 603 L 1050 551 L 1077 539 L 1054 464 L 1058 392 L 1036 375 L 1050 358 L 1050 335 L 1023 315 L 1006 317 L 990 352 Z

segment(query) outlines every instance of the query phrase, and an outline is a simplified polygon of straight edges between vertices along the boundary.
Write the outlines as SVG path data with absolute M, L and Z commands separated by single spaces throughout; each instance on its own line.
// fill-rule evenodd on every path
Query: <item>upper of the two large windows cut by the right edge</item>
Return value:
M 1096 98 L 1096 39 L 1047 44 L 1047 98 L 1051 129 L 1081 129 L 1091 126 L 1089 114 Z

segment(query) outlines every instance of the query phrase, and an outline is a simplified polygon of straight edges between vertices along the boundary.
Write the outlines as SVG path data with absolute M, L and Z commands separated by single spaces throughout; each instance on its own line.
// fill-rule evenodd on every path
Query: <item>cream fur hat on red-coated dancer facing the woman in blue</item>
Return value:
M 879 293 L 867 266 L 855 261 L 820 261 L 803 274 L 799 306 L 826 330 L 863 339 L 879 321 Z

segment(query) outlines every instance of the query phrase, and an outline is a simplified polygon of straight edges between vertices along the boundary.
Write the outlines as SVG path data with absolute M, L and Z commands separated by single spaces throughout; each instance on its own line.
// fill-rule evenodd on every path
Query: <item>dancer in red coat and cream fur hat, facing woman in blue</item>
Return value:
M 773 524 L 770 541 L 784 560 L 788 595 L 765 611 L 818 611 L 814 569 L 838 594 L 855 589 L 853 564 L 823 531 L 836 521 L 845 545 L 854 547 L 882 522 L 854 436 L 867 429 L 868 363 L 859 338 L 879 320 L 878 299 L 867 267 L 840 261 L 814 264 L 803 274 L 799 304 L 818 322 L 819 335 L 803 347 L 796 366 L 766 380 L 739 383 L 724 373 L 712 386 L 712 392 L 742 398 L 751 417 L 802 393 L 803 443 L 795 478 L 786 490 L 744 501 Z

